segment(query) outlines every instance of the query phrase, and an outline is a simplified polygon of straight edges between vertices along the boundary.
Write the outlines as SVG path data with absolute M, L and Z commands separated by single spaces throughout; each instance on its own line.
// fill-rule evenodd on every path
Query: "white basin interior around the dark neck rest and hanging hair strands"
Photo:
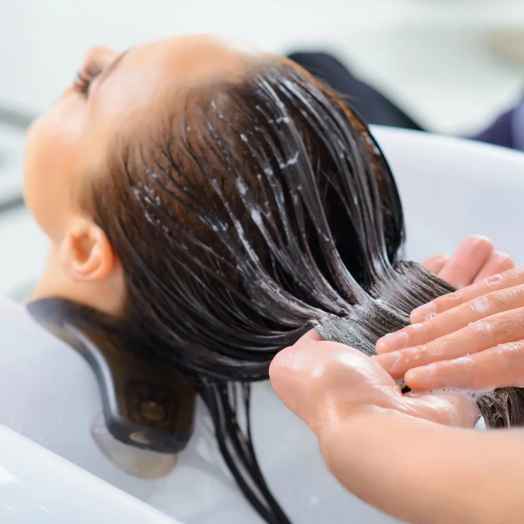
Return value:
M 83 359 L 34 324 L 18 304 L 2 303 L 0 337 L 0 398 L 5 399 L 0 404 L 0 424 L 184 524 L 260 522 L 222 463 L 201 405 L 196 434 L 175 470 L 155 481 L 130 477 L 108 462 L 91 439 L 90 424 L 100 411 L 100 402 Z M 268 384 L 255 386 L 253 410 L 260 462 L 293 521 L 312 524 L 328 518 L 335 522 L 344 508 L 350 514 L 368 516 L 370 523 L 383 522 L 328 475 L 315 439 Z

